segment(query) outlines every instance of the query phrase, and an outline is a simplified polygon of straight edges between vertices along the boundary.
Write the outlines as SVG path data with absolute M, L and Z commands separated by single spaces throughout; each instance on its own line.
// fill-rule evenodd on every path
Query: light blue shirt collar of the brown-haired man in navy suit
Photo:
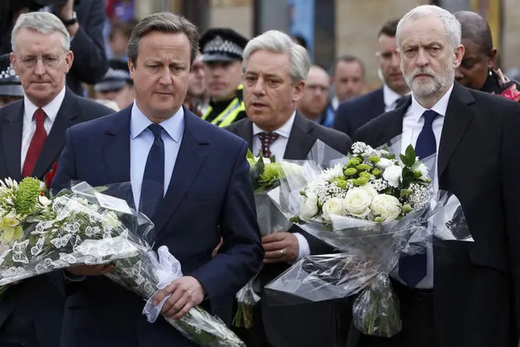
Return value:
M 150 124 L 152 124 L 152 121 L 141 112 L 137 103 L 134 102 L 132 105 L 132 116 L 130 117 L 130 135 L 132 139 L 141 135 Z M 173 141 L 180 142 L 180 137 L 184 133 L 184 108 L 179 108 L 173 117 L 162 121 L 161 126 Z

